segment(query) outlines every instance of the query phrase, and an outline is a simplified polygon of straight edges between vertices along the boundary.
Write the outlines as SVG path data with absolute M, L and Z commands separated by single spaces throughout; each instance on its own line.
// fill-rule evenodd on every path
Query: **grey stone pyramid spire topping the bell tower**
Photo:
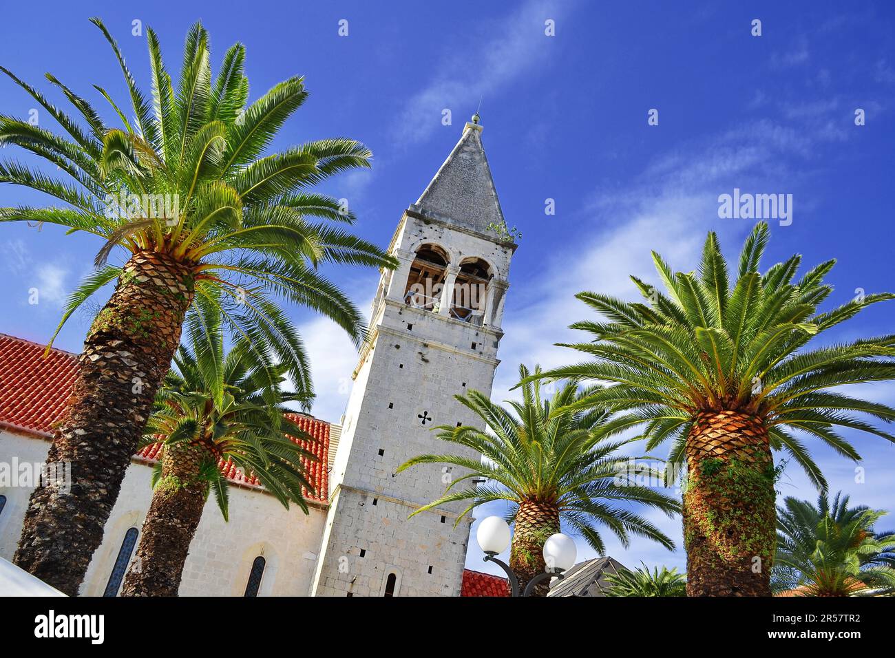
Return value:
M 478 113 L 411 209 L 426 217 L 489 235 L 489 224 L 503 225 L 498 193 L 482 147 Z

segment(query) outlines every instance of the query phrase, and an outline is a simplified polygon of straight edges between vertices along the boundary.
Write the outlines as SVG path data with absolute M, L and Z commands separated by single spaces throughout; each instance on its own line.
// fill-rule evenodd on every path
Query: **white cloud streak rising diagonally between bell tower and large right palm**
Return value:
M 771 121 L 754 122 L 656 158 L 626 189 L 594 193 L 592 201 L 569 219 L 589 223 L 592 230 L 575 235 L 575 244 L 547 261 L 538 278 L 510 290 L 506 336 L 500 344 L 504 365 L 493 397 L 510 397 L 518 363 L 549 368 L 575 361 L 571 351 L 553 346 L 581 339 L 580 332 L 567 326 L 593 317 L 575 293 L 599 290 L 639 299 L 629 275 L 655 280 L 651 250 L 660 252 L 672 267 L 695 269 L 709 230 L 719 234 L 729 256 L 736 255 L 752 224 L 718 218 L 718 195 L 731 191 L 726 186 L 730 180 L 743 189 L 771 185 L 767 191 L 777 191 L 787 172 L 778 165 L 771 181 L 767 163 L 779 162 L 782 153 L 807 157 L 816 139 Z M 523 242 L 520 249 L 524 248 Z

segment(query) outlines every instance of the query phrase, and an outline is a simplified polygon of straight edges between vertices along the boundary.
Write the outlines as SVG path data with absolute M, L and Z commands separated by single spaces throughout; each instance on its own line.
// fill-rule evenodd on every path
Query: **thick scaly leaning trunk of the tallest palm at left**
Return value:
M 69 486 L 33 491 L 13 562 L 65 594 L 78 594 L 115 505 L 153 398 L 180 342 L 192 272 L 137 252 L 90 328 L 47 463 L 70 464 Z

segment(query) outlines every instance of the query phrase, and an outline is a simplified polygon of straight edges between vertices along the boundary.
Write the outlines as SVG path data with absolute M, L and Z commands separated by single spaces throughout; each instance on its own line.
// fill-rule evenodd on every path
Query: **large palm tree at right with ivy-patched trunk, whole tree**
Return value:
M 575 408 L 609 407 L 618 412 L 609 435 L 645 426 L 648 450 L 671 441 L 669 467 L 686 462 L 690 596 L 771 594 L 774 482 L 780 471 L 771 451 L 783 451 L 815 485 L 826 487 L 794 430 L 856 460 L 857 451 L 836 428 L 895 440 L 853 414 L 888 423 L 895 409 L 831 390 L 895 378 L 895 361 L 885 358 L 895 354 L 895 336 L 802 349 L 893 295 L 862 295 L 818 312 L 832 292 L 823 278 L 835 261 L 810 269 L 795 283 L 798 255 L 762 274 L 759 261 L 769 233 L 764 223 L 754 227 L 732 286 L 718 238 L 709 233 L 698 274 L 674 272 L 652 253 L 665 292 L 632 277 L 646 303 L 580 293 L 578 299 L 608 321 L 572 325 L 590 337 L 567 345 L 585 355 L 584 362 L 542 375 L 609 382 Z

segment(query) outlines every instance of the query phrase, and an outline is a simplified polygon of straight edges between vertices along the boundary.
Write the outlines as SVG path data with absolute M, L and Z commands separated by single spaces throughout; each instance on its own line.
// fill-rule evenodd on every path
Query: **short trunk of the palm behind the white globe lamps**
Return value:
M 556 505 L 523 500 L 516 512 L 513 547 L 509 554 L 509 566 L 519 581 L 519 594 L 525 585 L 538 574 L 544 564 L 544 543 L 551 534 L 559 532 L 559 510 Z M 507 585 L 508 587 L 508 585 Z M 533 596 L 546 596 L 550 581 L 543 580 L 534 586 Z

